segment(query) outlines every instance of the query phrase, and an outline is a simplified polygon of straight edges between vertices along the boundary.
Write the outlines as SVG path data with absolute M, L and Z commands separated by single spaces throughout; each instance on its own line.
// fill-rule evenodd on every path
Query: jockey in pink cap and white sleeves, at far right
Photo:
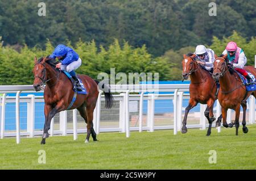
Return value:
M 248 85 L 254 84 L 253 79 L 251 79 L 250 75 L 243 69 L 243 66 L 245 66 L 247 62 L 247 58 L 243 50 L 240 47 L 237 47 L 236 42 L 230 41 L 228 45 L 226 45 L 226 49 L 222 54 L 227 53 L 229 63 L 234 67 L 234 69 L 248 80 Z

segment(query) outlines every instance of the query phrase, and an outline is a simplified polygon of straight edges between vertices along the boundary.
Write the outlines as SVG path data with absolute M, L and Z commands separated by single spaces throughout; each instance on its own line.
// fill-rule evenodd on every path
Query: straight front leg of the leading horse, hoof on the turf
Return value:
M 55 116 L 56 112 L 57 112 L 56 108 L 52 108 L 51 105 L 49 104 L 44 105 L 45 121 L 44 121 L 44 133 L 43 133 L 41 144 L 46 144 L 46 138 L 49 137 L 48 130 L 50 129 L 50 126 L 51 126 L 51 120 L 52 120 L 52 117 Z

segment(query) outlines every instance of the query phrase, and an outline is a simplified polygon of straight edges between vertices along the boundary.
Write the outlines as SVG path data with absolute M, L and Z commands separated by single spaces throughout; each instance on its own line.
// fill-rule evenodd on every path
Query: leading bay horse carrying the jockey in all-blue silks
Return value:
M 50 128 L 52 117 L 60 111 L 67 110 L 72 102 L 73 91 L 72 82 L 62 71 L 57 70 L 55 59 L 42 57 L 39 60 L 35 57 L 34 73 L 34 89 L 40 91 L 42 85 L 46 83 L 44 89 L 44 132 L 41 144 L 46 144 L 46 138 L 49 137 L 48 130 Z M 96 132 L 93 129 L 93 111 L 96 107 L 98 98 L 98 85 L 100 82 L 94 81 L 88 75 L 77 75 L 87 91 L 87 94 L 77 94 L 75 102 L 68 110 L 77 109 L 81 117 L 87 124 L 87 136 L 85 142 L 89 141 L 92 134 L 93 141 L 97 141 Z M 105 86 L 105 87 L 104 87 Z M 106 108 L 111 108 L 113 104 L 113 95 L 110 93 L 108 85 L 102 85 L 104 88 Z M 100 89 L 102 89 L 100 87 Z M 107 88 L 107 90 L 106 90 Z

